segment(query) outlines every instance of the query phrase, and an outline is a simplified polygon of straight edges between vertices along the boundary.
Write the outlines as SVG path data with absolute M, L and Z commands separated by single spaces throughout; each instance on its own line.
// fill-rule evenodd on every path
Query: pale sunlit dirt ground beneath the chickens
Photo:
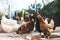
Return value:
M 58 29 L 58 28 L 57 28 Z M 60 40 L 60 31 L 55 30 L 49 40 Z M 36 39 L 37 38 L 37 39 Z M 40 36 L 39 32 L 32 32 L 31 34 L 16 34 L 16 33 L 4 33 L 2 32 L 2 29 L 0 28 L 0 40 L 48 40 L 42 36 Z

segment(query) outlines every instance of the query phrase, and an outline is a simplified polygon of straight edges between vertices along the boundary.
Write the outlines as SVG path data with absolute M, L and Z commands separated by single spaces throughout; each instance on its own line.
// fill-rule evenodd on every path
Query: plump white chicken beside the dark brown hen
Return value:
M 15 32 L 22 24 L 17 24 L 16 20 L 7 19 L 4 15 L 1 20 L 1 27 L 5 32 Z

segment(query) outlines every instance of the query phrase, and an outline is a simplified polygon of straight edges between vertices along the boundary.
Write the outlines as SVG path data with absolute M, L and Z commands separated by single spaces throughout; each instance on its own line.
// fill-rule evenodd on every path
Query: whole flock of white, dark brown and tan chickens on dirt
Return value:
M 31 33 L 34 28 L 36 28 L 38 32 L 43 32 L 44 36 L 49 38 L 54 28 L 53 19 L 51 19 L 50 23 L 48 23 L 48 18 L 43 19 L 39 13 L 36 14 L 36 18 L 38 21 L 35 21 L 34 15 L 29 15 L 27 17 L 27 21 L 23 21 L 21 24 L 17 24 L 16 20 L 7 19 L 5 15 L 3 15 L 1 20 L 1 27 L 5 32 L 16 32 L 17 34 Z M 34 26 L 35 22 L 36 26 Z

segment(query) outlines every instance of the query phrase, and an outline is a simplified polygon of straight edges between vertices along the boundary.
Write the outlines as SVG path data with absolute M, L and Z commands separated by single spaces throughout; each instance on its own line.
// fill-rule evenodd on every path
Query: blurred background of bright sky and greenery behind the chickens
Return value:
M 0 0 L 0 22 L 2 12 L 7 18 L 18 16 L 24 20 L 29 14 L 39 12 L 43 18 L 52 18 L 55 26 L 60 26 L 60 0 Z

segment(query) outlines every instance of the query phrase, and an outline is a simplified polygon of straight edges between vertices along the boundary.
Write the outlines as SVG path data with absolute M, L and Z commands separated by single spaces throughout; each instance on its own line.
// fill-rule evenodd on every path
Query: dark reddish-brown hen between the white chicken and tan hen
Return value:
M 21 32 L 21 33 L 30 33 L 33 31 L 34 29 L 34 17 L 32 17 L 31 15 L 28 16 L 28 21 L 24 22 L 23 25 L 16 31 L 17 33 Z

